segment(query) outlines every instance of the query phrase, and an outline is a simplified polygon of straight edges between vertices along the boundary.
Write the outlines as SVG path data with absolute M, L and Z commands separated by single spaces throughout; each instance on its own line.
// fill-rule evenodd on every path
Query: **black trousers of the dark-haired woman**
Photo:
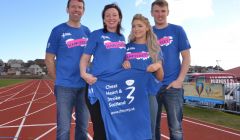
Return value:
M 87 86 L 87 92 L 88 93 L 88 86 Z M 86 103 L 88 110 L 90 112 L 92 124 L 93 124 L 93 140 L 106 140 L 106 133 L 104 128 L 104 123 L 101 115 L 100 110 L 100 103 L 97 101 L 95 104 L 91 104 L 88 99 L 88 94 L 86 94 Z

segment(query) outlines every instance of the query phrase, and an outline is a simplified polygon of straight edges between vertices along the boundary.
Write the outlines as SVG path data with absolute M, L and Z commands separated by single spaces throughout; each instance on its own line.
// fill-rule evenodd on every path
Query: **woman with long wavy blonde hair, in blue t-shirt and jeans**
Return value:
M 162 54 L 157 37 L 153 33 L 149 20 L 141 14 L 132 19 L 132 30 L 129 43 L 126 45 L 126 59 L 123 63 L 125 69 L 134 68 L 146 70 L 155 74 L 160 81 L 163 79 Z M 149 95 L 151 112 L 152 138 L 155 139 L 155 124 L 157 115 L 156 97 Z

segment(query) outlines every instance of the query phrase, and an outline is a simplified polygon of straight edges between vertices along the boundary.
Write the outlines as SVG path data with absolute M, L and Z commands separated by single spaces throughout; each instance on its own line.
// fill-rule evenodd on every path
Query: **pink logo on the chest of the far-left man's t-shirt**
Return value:
M 87 45 L 87 38 L 81 38 L 81 39 L 68 39 L 66 41 L 66 44 L 68 48 L 74 48 L 74 47 L 85 47 Z

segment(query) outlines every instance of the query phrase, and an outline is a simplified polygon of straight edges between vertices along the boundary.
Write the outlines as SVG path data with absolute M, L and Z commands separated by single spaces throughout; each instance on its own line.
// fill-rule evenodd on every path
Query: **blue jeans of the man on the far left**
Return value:
M 85 88 L 55 86 L 57 102 L 57 140 L 70 139 L 72 111 L 75 107 L 75 140 L 87 140 L 89 112 Z

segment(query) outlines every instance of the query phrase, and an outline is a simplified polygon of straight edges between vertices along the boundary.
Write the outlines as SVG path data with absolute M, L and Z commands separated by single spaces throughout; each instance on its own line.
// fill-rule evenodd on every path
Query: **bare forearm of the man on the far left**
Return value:
M 55 80 L 56 79 L 56 66 L 55 66 L 55 55 L 46 53 L 45 64 L 47 66 L 48 75 Z

